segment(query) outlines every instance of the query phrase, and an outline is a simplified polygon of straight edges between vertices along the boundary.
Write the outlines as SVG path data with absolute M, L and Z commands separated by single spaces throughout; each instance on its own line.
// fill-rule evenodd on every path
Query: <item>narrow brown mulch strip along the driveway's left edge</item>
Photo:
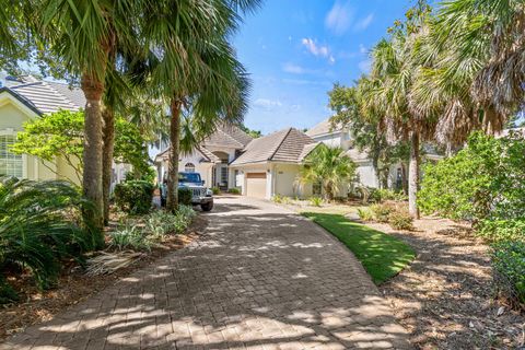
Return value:
M 133 271 L 154 264 L 159 258 L 191 243 L 203 232 L 208 221 L 198 215 L 185 234 L 171 235 L 162 246 L 153 248 L 142 259 L 133 265 L 117 270 L 113 275 L 89 277 L 77 266 L 65 269 L 59 279 L 58 288 L 40 292 L 35 288 L 31 276 L 23 275 L 8 277 L 10 283 L 20 291 L 19 304 L 0 306 L 0 340 L 23 330 L 25 327 L 49 320 L 57 313 L 78 304 L 108 285 L 116 283 L 120 278 Z

